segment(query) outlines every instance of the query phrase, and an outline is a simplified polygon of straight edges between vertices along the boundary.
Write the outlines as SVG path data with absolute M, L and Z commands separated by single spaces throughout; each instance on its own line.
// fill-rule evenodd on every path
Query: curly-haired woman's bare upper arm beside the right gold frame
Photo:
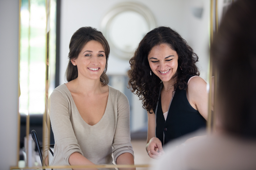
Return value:
M 198 76 L 191 78 L 188 83 L 187 98 L 191 106 L 208 120 L 207 83 L 202 78 Z

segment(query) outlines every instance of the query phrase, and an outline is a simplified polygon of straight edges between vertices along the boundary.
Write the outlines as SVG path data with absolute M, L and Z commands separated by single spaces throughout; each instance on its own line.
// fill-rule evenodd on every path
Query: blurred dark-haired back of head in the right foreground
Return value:
M 217 115 L 222 129 L 249 138 L 256 138 L 255 8 L 255 0 L 232 4 L 211 46 L 218 71 Z

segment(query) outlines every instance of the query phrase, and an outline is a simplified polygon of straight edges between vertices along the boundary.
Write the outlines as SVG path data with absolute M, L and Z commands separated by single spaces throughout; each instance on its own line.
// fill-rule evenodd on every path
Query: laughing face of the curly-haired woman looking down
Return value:
M 147 59 L 153 73 L 163 82 L 170 81 L 177 71 L 178 54 L 168 44 L 153 47 Z

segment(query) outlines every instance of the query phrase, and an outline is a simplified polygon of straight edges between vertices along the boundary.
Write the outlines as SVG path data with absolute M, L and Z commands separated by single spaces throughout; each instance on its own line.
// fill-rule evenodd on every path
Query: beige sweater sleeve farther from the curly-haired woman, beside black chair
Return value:
M 77 143 L 70 121 L 71 107 L 69 101 L 58 90 L 54 90 L 49 99 L 49 114 L 54 133 L 55 145 L 63 159 L 69 164 L 69 156 L 78 152 L 83 155 Z

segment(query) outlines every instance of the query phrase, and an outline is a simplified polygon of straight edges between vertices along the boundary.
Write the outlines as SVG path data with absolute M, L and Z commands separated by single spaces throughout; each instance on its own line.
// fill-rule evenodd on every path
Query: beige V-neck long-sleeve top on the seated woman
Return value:
M 55 140 L 51 165 L 70 165 L 69 156 L 74 152 L 94 164 L 112 164 L 112 153 L 115 162 L 123 153 L 133 155 L 129 102 L 122 92 L 111 86 L 105 113 L 93 126 L 83 120 L 65 84 L 52 92 L 49 114 Z

